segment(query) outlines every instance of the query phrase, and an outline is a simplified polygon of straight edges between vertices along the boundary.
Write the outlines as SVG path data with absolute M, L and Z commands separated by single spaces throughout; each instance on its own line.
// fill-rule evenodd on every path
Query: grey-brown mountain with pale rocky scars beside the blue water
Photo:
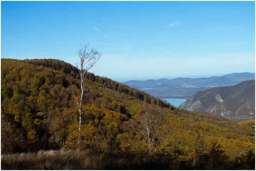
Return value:
M 179 108 L 205 111 L 225 117 L 255 116 L 255 80 L 196 92 Z

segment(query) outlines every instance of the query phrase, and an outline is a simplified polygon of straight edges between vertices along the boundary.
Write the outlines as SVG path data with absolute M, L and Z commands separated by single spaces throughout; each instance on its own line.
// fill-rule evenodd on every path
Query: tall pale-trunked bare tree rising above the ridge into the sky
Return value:
M 79 97 L 77 96 L 77 94 L 75 94 L 74 88 L 72 86 L 72 82 L 70 80 L 71 86 L 72 86 L 72 91 L 73 91 L 72 93 L 77 102 L 77 107 L 79 110 L 79 124 L 77 122 L 78 129 L 79 129 L 79 137 L 78 137 L 79 144 L 80 144 L 80 139 L 81 139 L 80 132 L 81 132 L 81 127 L 82 127 L 82 118 L 83 118 L 84 112 L 86 111 L 86 108 L 85 109 L 82 108 L 82 100 L 83 100 L 83 97 L 84 97 L 86 91 L 89 88 L 91 88 L 91 87 L 87 87 L 87 88 L 84 87 L 83 82 L 86 79 L 87 71 L 89 69 L 93 68 L 95 66 L 95 63 L 98 62 L 98 60 L 101 58 L 101 52 L 98 52 L 94 48 L 88 49 L 88 46 L 89 46 L 89 44 L 84 45 L 84 46 L 81 45 L 82 48 L 77 51 L 79 58 L 80 58 L 80 62 L 76 62 L 76 67 L 79 70 L 79 75 L 80 75 L 80 79 L 81 79 L 81 95 Z M 76 119 L 76 121 L 77 121 L 77 119 Z

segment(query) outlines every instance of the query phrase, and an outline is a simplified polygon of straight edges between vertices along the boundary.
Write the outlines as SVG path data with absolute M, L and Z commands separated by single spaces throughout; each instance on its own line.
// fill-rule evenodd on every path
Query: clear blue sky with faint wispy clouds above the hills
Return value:
M 89 72 L 119 82 L 255 73 L 255 2 L 1 4 L 1 58 L 75 65 L 88 43 L 102 52 Z

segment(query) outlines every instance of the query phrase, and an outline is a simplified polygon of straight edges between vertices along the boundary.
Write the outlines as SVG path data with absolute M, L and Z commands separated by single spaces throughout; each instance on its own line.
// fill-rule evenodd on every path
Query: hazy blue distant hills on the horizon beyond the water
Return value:
M 142 90 L 159 98 L 188 98 L 197 91 L 218 86 L 232 86 L 242 81 L 255 79 L 255 73 L 232 73 L 209 78 L 174 78 L 146 81 L 125 81 L 122 84 Z

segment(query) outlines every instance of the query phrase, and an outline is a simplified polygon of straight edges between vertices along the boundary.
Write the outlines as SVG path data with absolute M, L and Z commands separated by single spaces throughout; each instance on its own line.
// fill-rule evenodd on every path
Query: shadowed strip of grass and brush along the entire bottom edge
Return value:
M 112 156 L 112 157 L 111 157 Z M 90 150 L 40 150 L 38 153 L 2 154 L 1 170 L 254 170 L 255 152 L 233 160 L 168 159 L 153 155 L 101 154 Z

